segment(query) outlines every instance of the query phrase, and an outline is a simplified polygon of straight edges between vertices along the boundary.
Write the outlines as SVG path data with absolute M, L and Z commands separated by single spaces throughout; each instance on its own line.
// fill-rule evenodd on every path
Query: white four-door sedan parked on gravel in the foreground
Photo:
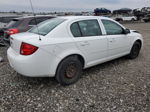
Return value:
M 122 56 L 134 59 L 141 34 L 106 17 L 70 16 L 47 20 L 12 35 L 7 51 L 12 68 L 29 77 L 56 77 L 73 84 L 82 70 Z

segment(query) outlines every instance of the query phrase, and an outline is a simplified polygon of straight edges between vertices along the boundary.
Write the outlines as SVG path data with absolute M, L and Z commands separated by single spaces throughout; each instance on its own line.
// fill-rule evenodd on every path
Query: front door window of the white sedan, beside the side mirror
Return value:
M 110 20 L 102 20 L 107 35 L 123 34 L 123 28 Z

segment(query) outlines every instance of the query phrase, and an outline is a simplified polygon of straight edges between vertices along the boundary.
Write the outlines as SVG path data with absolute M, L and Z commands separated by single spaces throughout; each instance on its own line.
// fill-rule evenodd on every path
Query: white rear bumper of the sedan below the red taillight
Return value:
M 52 57 L 42 50 L 30 56 L 17 54 L 12 48 L 7 51 L 7 57 L 11 67 L 18 73 L 28 77 L 53 77 L 51 74 Z

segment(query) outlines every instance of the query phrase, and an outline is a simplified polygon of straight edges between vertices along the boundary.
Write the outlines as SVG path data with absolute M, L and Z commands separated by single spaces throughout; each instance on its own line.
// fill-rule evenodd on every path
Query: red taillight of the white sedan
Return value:
M 38 47 L 22 42 L 21 48 L 20 48 L 20 54 L 21 55 L 31 55 L 31 54 L 35 53 L 37 50 L 38 50 Z

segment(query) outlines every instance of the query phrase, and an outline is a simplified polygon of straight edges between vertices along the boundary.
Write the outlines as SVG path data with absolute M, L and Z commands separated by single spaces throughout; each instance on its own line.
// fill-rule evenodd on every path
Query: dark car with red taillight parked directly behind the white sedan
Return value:
M 4 36 L 4 41 L 9 43 L 9 36 L 16 33 L 26 32 L 36 24 L 39 24 L 47 19 L 52 19 L 53 16 L 26 16 L 15 18 L 9 24 L 1 29 L 1 34 Z M 3 44 L 3 43 L 1 43 Z

